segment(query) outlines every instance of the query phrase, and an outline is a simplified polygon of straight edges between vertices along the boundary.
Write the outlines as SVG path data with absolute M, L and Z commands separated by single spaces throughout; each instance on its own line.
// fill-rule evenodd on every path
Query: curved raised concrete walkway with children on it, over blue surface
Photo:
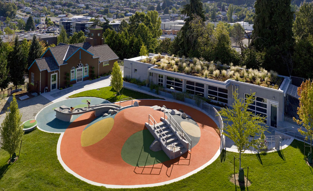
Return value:
M 84 114 L 87 112 L 94 111 L 94 115 L 98 117 L 102 115 L 103 113 L 108 112 L 109 110 L 116 110 L 116 109 L 119 110 L 120 106 L 116 104 L 98 104 L 98 105 L 90 106 L 89 108 L 87 107 L 75 108 L 73 112 L 70 112 L 71 107 L 63 105 L 59 108 L 54 109 L 54 111 L 56 112 L 57 119 L 62 120 L 64 122 L 71 122 L 73 115 L 79 115 L 79 114 Z

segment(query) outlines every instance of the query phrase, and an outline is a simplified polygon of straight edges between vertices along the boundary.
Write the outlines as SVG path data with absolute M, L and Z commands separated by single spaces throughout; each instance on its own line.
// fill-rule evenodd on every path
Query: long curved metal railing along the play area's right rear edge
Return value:
M 220 130 L 220 136 L 221 136 L 221 149 L 225 148 L 225 139 L 224 136 L 222 136 L 223 130 L 224 130 L 224 124 L 223 124 L 223 119 L 219 112 L 210 104 L 207 102 L 197 98 L 194 95 L 191 94 L 186 94 L 182 92 L 177 92 L 175 90 L 170 90 L 170 89 L 165 89 L 162 87 L 158 88 L 158 95 L 174 99 L 180 102 L 183 102 L 182 104 L 191 104 L 193 106 L 196 106 L 203 110 L 205 113 L 207 113 L 211 119 L 214 120 L 214 122 L 217 124 L 219 130 Z

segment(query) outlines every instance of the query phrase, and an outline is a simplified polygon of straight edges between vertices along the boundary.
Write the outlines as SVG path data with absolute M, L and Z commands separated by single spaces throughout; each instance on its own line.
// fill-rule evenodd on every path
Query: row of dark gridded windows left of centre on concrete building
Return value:
M 158 85 L 163 86 L 163 75 L 158 74 L 157 83 Z M 166 76 L 165 85 L 166 85 L 166 88 L 169 88 L 169 89 L 174 89 L 174 90 L 181 91 L 181 92 L 183 90 L 182 79 L 179 79 L 176 77 Z M 205 95 L 204 89 L 205 89 L 205 84 L 186 80 L 186 93 L 204 97 Z M 228 90 L 224 88 L 208 85 L 208 98 L 227 104 L 228 103 Z

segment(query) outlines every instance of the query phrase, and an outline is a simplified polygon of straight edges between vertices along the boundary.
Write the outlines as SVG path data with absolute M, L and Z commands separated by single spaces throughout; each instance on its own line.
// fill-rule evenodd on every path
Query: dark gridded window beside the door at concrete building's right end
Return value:
M 245 94 L 245 98 L 248 94 Z M 254 115 L 260 115 L 261 117 L 267 117 L 267 99 L 253 96 L 254 102 L 248 106 L 248 111 L 252 112 Z M 266 120 L 265 120 L 266 123 Z

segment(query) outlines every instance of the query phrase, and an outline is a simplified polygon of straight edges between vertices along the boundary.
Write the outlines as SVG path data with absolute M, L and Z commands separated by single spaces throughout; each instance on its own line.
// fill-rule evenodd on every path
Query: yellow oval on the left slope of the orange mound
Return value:
M 90 146 L 102 140 L 112 129 L 114 125 L 113 118 L 101 120 L 81 133 L 81 146 Z

